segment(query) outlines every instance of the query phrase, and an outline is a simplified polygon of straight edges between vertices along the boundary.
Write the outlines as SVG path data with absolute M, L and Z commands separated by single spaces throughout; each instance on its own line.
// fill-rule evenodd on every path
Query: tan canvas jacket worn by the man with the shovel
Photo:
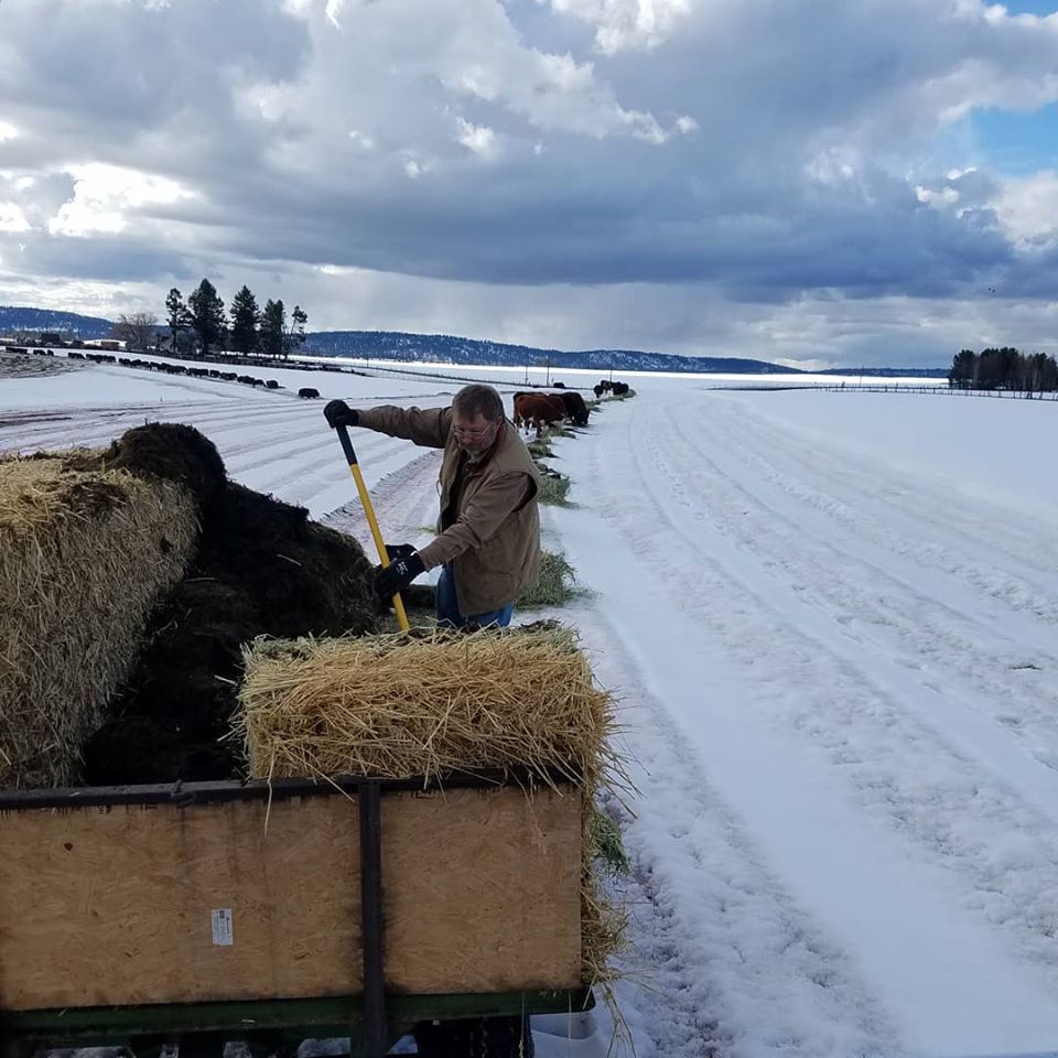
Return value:
M 428 570 L 450 565 L 464 617 L 499 609 L 533 584 L 540 569 L 540 475 L 510 422 L 488 455 L 469 464 L 452 434 L 452 409 L 384 404 L 359 425 L 444 449 L 439 536 L 419 551 Z

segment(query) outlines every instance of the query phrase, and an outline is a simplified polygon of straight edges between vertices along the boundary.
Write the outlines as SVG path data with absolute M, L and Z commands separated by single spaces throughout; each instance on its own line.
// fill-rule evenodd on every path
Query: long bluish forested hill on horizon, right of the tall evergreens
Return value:
M 479 342 L 446 334 L 406 334 L 399 331 L 317 331 L 307 336 L 307 352 L 316 356 L 349 356 L 386 360 L 432 360 L 440 364 L 494 364 L 500 367 L 574 368 L 589 371 L 725 371 L 736 375 L 801 374 L 766 360 L 737 357 L 677 356 L 636 349 L 585 349 L 563 353 L 527 345 Z

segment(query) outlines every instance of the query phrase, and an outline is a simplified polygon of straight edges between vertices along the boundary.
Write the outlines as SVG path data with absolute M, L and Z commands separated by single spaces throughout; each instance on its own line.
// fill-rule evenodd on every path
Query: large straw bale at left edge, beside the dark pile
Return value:
M 0 460 L 0 787 L 76 780 L 195 546 L 185 486 L 74 469 L 91 455 Z

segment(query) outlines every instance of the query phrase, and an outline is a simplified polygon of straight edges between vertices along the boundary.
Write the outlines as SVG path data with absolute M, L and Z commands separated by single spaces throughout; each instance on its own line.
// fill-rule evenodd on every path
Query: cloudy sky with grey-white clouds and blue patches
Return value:
M 1058 0 L 0 0 L 0 303 L 1058 354 Z

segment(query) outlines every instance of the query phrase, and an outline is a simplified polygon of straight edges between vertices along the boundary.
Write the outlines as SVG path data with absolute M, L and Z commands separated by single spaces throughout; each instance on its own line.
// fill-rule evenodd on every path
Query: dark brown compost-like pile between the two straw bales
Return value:
M 220 739 L 236 708 L 240 646 L 259 635 L 374 631 L 371 563 L 355 539 L 303 508 L 229 482 L 192 427 L 139 427 L 86 460 L 182 482 L 197 500 L 201 537 L 186 575 L 151 616 L 110 719 L 85 747 L 85 781 L 237 777 L 241 747 Z

